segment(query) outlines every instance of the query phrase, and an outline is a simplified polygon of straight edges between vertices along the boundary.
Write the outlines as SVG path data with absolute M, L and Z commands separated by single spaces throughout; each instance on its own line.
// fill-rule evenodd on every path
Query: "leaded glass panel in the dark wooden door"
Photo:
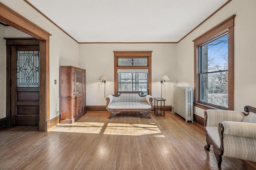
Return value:
M 17 51 L 17 87 L 39 87 L 39 51 Z

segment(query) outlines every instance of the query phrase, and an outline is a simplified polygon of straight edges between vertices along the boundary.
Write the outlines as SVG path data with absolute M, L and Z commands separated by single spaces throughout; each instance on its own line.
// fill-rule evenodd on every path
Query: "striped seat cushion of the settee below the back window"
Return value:
M 150 109 L 147 102 L 112 102 L 109 109 Z

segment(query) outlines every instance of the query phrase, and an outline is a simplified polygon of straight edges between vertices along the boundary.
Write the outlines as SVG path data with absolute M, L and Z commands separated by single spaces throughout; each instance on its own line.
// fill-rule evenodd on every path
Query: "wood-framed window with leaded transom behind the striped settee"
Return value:
M 152 51 L 114 51 L 115 91 L 151 94 Z

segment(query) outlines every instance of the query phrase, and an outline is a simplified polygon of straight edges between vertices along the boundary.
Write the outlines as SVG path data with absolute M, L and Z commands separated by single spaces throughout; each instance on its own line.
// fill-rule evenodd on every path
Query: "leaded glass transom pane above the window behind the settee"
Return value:
M 118 66 L 148 66 L 148 57 L 118 57 Z

